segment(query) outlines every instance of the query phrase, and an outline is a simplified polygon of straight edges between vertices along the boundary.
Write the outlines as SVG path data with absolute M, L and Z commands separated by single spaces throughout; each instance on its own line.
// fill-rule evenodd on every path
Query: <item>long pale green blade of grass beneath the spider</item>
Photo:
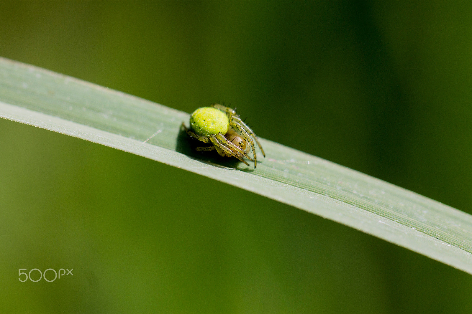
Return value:
M 472 273 L 472 215 L 269 140 L 257 169 L 197 154 L 180 130 L 185 112 L 0 58 L 0 116 L 202 174 Z

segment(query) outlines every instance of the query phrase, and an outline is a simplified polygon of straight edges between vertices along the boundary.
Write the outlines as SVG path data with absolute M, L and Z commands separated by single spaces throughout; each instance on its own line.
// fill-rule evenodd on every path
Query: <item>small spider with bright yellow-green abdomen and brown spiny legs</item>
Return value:
M 246 157 L 254 162 L 255 168 L 257 166 L 255 141 L 265 157 L 264 149 L 262 149 L 256 134 L 236 114 L 236 109 L 220 104 L 198 108 L 190 116 L 191 130 L 187 129 L 184 123 L 182 123 L 182 127 L 190 137 L 213 144 L 209 147 L 197 147 L 195 150 L 216 150 L 220 156 L 233 156 L 249 165 L 244 160 Z M 253 150 L 254 159 L 248 155 L 249 148 Z

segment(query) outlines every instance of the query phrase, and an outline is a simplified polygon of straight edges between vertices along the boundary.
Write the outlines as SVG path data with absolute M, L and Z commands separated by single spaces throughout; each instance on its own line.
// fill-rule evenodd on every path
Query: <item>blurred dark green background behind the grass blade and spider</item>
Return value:
M 0 56 L 186 112 L 225 101 L 263 138 L 472 213 L 471 1 L 1 1 Z M 0 282 L 1 313 L 472 311 L 469 274 L 3 119 Z

